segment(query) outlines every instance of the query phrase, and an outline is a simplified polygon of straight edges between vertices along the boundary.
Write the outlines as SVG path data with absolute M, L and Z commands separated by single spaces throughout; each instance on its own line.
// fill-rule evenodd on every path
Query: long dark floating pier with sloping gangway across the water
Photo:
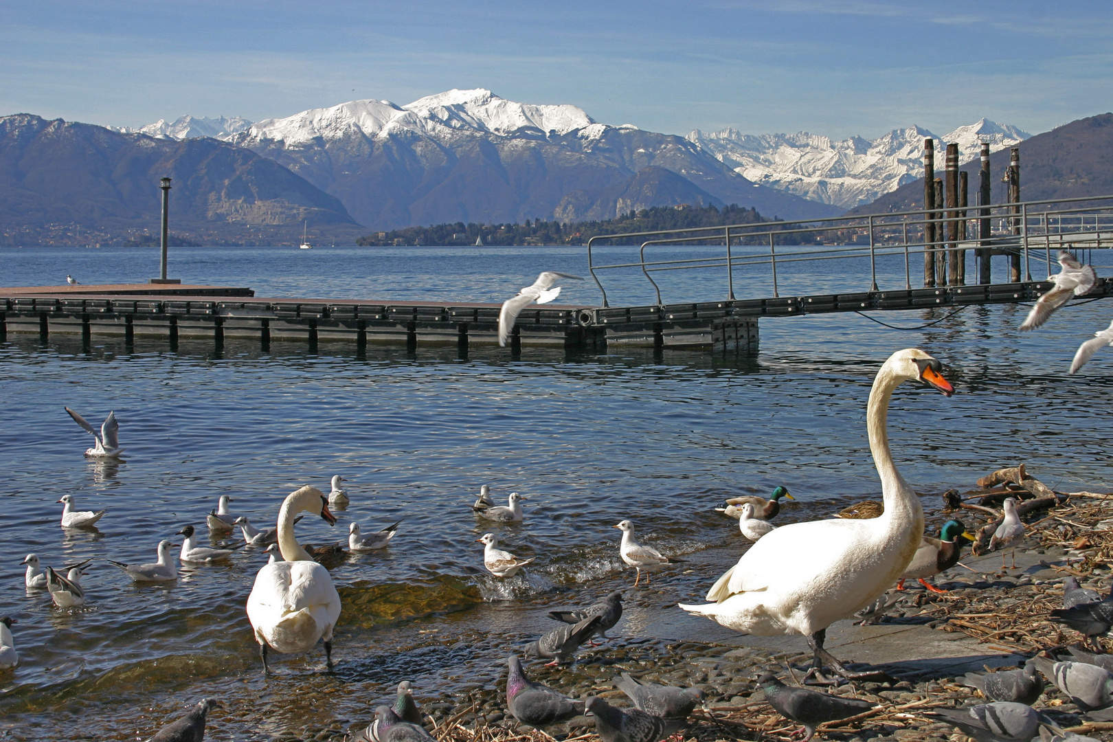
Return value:
M 560 347 L 601 353 L 644 346 L 746 352 L 757 348 L 761 317 L 924 309 L 1033 301 L 1050 281 L 949 286 L 854 294 L 630 307 L 543 305 L 518 317 L 510 349 Z M 162 338 L 250 338 L 269 344 L 498 344 L 499 304 L 256 297 L 250 288 L 131 284 L 0 288 L 0 339 L 10 334 Z M 1102 278 L 1087 298 L 1113 297 Z

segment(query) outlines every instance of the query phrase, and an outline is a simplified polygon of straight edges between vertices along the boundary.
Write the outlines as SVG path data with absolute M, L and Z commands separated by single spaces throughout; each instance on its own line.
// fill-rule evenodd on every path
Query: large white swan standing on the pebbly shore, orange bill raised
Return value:
M 920 380 L 948 397 L 954 394 L 939 372 L 938 360 L 907 348 L 889 356 L 874 379 L 866 427 L 881 479 L 880 516 L 792 523 L 771 531 L 711 586 L 707 600 L 712 603 L 680 607 L 746 634 L 801 634 L 814 652 L 815 672 L 826 662 L 845 677 L 860 677 L 824 650 L 827 626 L 875 601 L 919 548 L 924 511 L 893 463 L 886 421 L 893 390 L 903 382 Z

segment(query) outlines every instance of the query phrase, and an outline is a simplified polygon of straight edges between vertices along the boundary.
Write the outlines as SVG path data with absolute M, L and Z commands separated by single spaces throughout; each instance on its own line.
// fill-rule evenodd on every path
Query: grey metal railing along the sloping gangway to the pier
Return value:
M 978 234 L 974 235 L 975 231 Z M 639 245 L 637 263 L 604 265 L 595 261 L 593 248 L 599 243 L 632 246 L 621 240 L 634 238 Z M 811 244 L 801 245 L 804 240 Z M 725 250 L 716 256 L 646 259 L 647 248 L 667 245 L 720 245 Z M 732 246 L 740 245 L 764 245 L 768 250 L 737 255 Z M 780 251 L 778 245 L 782 246 Z M 978 283 L 991 283 L 987 279 L 988 260 L 994 255 L 1011 256 L 1008 280 L 1020 281 L 1022 261 L 1025 280 L 1032 280 L 1033 259 L 1044 263 L 1050 270 L 1053 248 L 1084 251 L 1103 246 L 1113 247 L 1113 196 L 602 235 L 588 240 L 588 268 L 602 294 L 604 307 L 610 304 L 599 271 L 622 268 L 640 268 L 657 293 L 658 305 L 662 305 L 661 288 L 651 275 L 660 271 L 725 268 L 727 298 L 733 300 L 735 271 L 747 266 L 769 267 L 772 295 L 777 297 L 780 295 L 778 265 L 868 257 L 869 290 L 876 291 L 877 261 L 883 257 L 903 257 L 904 288 L 910 289 L 912 264 L 917 255 L 925 261 L 924 286 L 961 286 L 966 283 L 967 251 L 975 255 L 978 264 Z M 786 251 L 784 247 L 789 249 Z M 1043 255 L 1034 257 L 1037 250 Z

